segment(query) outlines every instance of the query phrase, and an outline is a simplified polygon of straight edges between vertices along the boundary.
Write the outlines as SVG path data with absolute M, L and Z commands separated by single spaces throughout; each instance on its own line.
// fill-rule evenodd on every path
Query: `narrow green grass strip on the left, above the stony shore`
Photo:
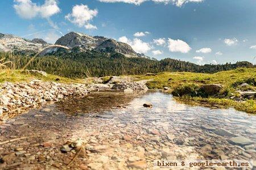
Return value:
M 0 71 L 0 83 L 3 82 L 30 82 L 38 79 L 44 82 L 59 82 L 59 83 L 85 83 L 83 79 L 69 79 L 57 75 L 47 74 L 47 76 L 34 75 L 24 73 L 21 70 L 5 69 Z

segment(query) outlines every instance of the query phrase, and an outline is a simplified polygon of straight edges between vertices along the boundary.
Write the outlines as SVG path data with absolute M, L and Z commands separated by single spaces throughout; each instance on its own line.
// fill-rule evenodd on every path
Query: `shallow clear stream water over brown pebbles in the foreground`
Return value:
M 146 102 L 153 107 L 144 108 Z M 2 169 L 158 169 L 153 165 L 158 159 L 255 160 L 256 155 L 256 116 L 181 104 L 162 92 L 92 92 L 32 109 L 0 127 L 1 141 L 39 135 L 1 145 Z M 76 139 L 86 151 L 67 167 L 76 151 L 64 154 L 60 148 Z

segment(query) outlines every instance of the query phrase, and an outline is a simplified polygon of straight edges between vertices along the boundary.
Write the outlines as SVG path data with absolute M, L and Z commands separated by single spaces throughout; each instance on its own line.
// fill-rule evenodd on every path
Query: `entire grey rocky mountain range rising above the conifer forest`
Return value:
M 116 40 L 108 39 L 102 36 L 89 36 L 84 33 L 69 32 L 67 35 L 60 37 L 60 39 L 58 39 L 55 44 L 67 46 L 71 48 L 71 51 L 69 52 L 75 53 L 86 52 L 88 50 L 96 50 L 97 52 L 103 53 L 116 52 L 129 58 L 142 57 L 151 59 L 144 54 L 136 53 L 133 48 L 131 48 L 131 46 L 126 43 L 118 42 Z M 14 52 L 31 55 L 46 48 L 48 45 L 50 44 L 42 39 L 26 40 L 18 36 L 0 33 L 0 52 Z M 67 53 L 67 50 L 52 47 L 43 50 L 40 56 L 55 55 L 58 52 L 63 54 Z

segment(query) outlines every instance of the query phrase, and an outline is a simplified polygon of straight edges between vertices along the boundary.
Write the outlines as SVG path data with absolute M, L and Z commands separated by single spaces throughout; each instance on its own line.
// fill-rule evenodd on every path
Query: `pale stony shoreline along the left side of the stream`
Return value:
M 118 83 L 117 83 L 118 80 Z M 112 77 L 108 83 L 100 84 L 56 83 L 31 80 L 31 82 L 0 84 L 0 120 L 5 121 L 9 114 L 26 108 L 36 108 L 47 102 L 55 102 L 67 96 L 83 97 L 91 91 L 123 91 L 133 94 L 135 91 L 147 91 L 146 81 L 133 82 Z

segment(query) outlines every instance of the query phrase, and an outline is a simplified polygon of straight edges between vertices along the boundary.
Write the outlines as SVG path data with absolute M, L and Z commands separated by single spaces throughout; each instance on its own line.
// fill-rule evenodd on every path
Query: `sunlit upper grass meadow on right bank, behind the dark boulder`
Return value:
M 256 78 L 256 68 L 254 69 L 236 69 L 230 71 L 221 71 L 214 74 L 189 73 L 189 72 L 165 72 L 156 75 L 134 75 L 139 79 L 152 79 L 147 83 L 148 88 L 159 89 L 170 87 L 174 89 L 184 83 L 202 84 L 222 84 L 225 87 L 232 87 L 236 82 L 245 82 L 249 78 Z

